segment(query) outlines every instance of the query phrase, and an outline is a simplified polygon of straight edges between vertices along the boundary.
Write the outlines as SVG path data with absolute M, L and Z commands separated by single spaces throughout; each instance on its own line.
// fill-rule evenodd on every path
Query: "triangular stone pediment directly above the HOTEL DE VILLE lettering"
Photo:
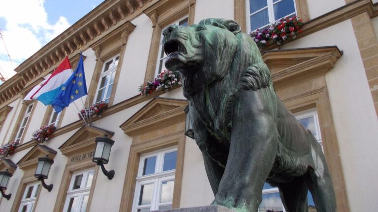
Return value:
M 110 138 L 114 135 L 114 132 L 85 125 L 68 138 L 59 149 L 65 156 L 70 156 L 86 149 L 94 150 L 96 137 L 102 137 L 105 135 Z

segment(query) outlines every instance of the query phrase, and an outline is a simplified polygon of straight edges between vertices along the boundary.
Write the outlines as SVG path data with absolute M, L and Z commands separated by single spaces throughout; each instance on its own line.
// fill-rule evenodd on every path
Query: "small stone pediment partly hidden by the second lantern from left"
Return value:
M 31 165 L 36 165 L 39 157 L 47 156 L 50 159 L 54 159 L 56 155 L 57 151 L 48 146 L 37 144 L 22 159 L 20 159 L 20 161 L 17 162 L 17 165 L 20 167 L 20 169 L 25 169 Z

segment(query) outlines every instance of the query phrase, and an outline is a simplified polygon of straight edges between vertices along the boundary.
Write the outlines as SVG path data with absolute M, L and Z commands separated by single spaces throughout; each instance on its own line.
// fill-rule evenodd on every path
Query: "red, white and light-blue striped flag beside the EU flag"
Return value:
M 55 69 L 48 79 L 45 79 L 39 85 L 35 86 L 24 100 L 38 100 L 45 106 L 51 105 L 58 95 L 62 86 L 72 74 L 71 64 L 68 57 Z

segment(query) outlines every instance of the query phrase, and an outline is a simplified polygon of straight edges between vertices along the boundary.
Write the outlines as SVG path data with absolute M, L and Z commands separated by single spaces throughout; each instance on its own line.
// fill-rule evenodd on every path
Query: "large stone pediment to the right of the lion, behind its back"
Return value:
M 325 75 L 342 56 L 337 46 L 271 50 L 262 53 L 276 89 Z

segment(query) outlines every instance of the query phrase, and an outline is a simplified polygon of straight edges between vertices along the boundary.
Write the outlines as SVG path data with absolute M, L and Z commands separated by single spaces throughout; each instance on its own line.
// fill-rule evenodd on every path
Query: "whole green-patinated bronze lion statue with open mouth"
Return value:
M 205 19 L 163 31 L 165 66 L 183 78 L 194 138 L 213 204 L 257 212 L 264 182 L 278 186 L 286 212 L 335 212 L 321 146 L 276 96 L 256 44 L 232 20 Z

